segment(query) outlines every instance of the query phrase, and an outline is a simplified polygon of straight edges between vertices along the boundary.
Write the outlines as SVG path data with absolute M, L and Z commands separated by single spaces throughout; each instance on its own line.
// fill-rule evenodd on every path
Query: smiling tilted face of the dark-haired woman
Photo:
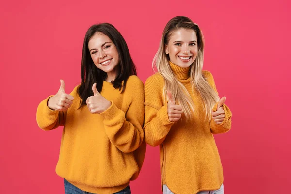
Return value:
M 88 48 L 97 68 L 107 74 L 116 73 L 119 55 L 115 45 L 107 35 L 98 32 L 95 33 L 89 40 Z

